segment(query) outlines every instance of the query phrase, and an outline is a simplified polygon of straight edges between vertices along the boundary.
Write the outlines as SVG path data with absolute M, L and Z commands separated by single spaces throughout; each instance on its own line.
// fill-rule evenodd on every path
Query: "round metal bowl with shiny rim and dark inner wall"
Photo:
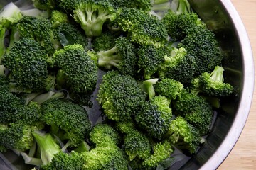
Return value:
M 0 8 L 9 2 L 1 1 Z M 225 55 L 225 81 L 235 86 L 237 95 L 221 101 L 222 107 L 206 142 L 181 169 L 217 169 L 237 142 L 250 111 L 254 87 L 252 50 L 245 27 L 230 1 L 190 0 L 190 3 L 220 42 Z M 0 157 L 0 169 L 9 169 L 4 163 Z

